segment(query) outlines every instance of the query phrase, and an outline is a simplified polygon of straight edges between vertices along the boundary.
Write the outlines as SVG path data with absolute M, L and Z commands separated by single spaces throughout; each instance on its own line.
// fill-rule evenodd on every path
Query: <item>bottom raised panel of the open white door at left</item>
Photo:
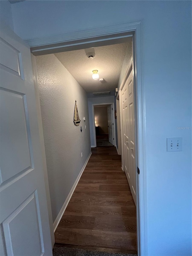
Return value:
M 41 219 L 37 198 L 36 190 L 3 221 L 2 227 L 8 255 L 43 254 L 44 244 L 41 239 Z M 28 215 L 28 219 L 26 219 L 26 215 Z M 20 223 L 22 223 L 22 226 Z M 37 235 L 37 239 L 33 238 L 34 234 Z M 31 241 L 31 243 L 29 243 L 29 241 Z M 18 246 L 23 243 L 29 243 L 27 254 L 25 247 Z

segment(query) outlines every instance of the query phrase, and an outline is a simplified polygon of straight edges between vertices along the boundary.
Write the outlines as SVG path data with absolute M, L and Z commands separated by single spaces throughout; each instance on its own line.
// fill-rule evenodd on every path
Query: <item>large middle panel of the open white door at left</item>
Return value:
M 31 134 L 29 120 L 26 120 L 26 95 L 18 92 L 0 89 L 1 101 L 1 145 L 6 145 L 1 151 L 1 183 L 20 172 L 32 169 Z M 27 130 L 28 128 L 28 130 Z M 17 137 L 15 136 L 17 134 Z M 31 146 L 31 145 L 30 145 Z M 7 162 L 6 156 L 11 156 Z M 9 172 L 7 172 L 7 169 Z

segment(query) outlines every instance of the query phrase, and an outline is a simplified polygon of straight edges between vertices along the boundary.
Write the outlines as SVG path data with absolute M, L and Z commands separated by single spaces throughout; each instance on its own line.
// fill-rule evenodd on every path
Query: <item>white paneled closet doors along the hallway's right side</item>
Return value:
M 135 115 L 133 70 L 121 92 L 122 113 L 122 164 L 126 173 L 131 193 L 136 204 L 136 156 L 135 156 Z

